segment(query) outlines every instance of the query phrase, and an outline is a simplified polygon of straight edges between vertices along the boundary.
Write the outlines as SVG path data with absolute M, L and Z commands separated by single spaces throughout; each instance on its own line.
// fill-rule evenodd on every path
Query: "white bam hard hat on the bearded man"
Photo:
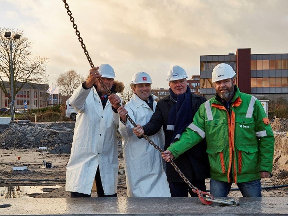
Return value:
M 216 65 L 212 71 L 212 82 L 233 78 L 235 75 L 235 71 L 229 64 L 221 63 Z

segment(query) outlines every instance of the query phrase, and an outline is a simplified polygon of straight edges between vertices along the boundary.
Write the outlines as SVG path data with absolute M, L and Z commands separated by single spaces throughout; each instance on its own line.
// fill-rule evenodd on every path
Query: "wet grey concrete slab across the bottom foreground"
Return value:
M 287 215 L 288 197 L 237 197 L 204 206 L 197 197 L 0 199 L 0 215 Z M 1 208 L 1 205 L 7 207 Z M 9 205 L 11 205 L 9 207 Z

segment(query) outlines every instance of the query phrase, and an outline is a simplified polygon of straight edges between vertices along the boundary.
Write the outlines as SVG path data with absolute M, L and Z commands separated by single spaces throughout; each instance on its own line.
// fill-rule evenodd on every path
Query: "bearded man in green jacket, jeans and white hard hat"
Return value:
M 225 63 L 213 69 L 215 97 L 200 106 L 193 122 L 162 157 L 177 159 L 206 137 L 210 193 L 226 197 L 234 182 L 243 196 L 260 197 L 260 178 L 272 171 L 274 135 L 260 101 L 240 92 L 235 75 Z

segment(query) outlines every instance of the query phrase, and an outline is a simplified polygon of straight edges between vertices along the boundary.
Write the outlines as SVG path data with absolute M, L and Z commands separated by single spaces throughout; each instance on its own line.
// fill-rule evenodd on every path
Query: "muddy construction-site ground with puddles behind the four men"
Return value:
M 65 192 L 66 164 L 72 144 L 73 122 L 28 123 L 0 126 L 0 198 L 20 197 L 69 197 Z M 288 119 L 278 119 L 271 124 L 275 135 L 273 176 L 261 179 L 262 187 L 288 184 Z M 126 196 L 125 167 L 121 136 L 118 135 L 118 196 Z M 39 146 L 48 147 L 39 150 Z M 28 166 L 25 171 L 12 171 L 12 166 Z M 53 168 L 43 168 L 43 160 L 52 162 Z M 209 189 L 209 179 L 206 181 Z M 49 193 L 26 193 L 21 187 L 59 185 Z M 3 187 L 7 187 L 3 190 Z M 17 186 L 17 187 L 15 187 Z M 233 185 L 233 188 L 237 188 Z M 46 188 L 47 189 L 47 188 Z M 22 191 L 23 190 L 23 191 Z M 262 190 L 263 196 L 288 196 L 288 187 Z M 96 197 L 92 192 L 92 197 Z M 241 196 L 239 191 L 231 191 L 229 196 Z

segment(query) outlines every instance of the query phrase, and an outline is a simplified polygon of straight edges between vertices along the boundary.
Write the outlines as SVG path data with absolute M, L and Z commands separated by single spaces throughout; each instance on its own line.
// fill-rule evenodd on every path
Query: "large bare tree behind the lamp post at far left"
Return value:
M 23 35 L 23 31 L 11 30 L 7 28 L 0 28 L 0 88 L 5 95 L 11 101 L 11 96 L 8 94 L 10 90 L 10 39 L 4 37 L 5 32 L 11 32 L 11 36 L 14 34 Z M 20 39 L 12 40 L 12 63 L 14 71 L 13 80 L 13 95 L 17 95 L 17 92 L 26 83 L 45 83 L 45 63 L 47 58 L 44 57 L 32 57 L 31 42 L 21 36 Z M 8 81 L 8 85 L 4 85 L 5 81 Z M 6 82 L 7 83 L 7 82 Z M 33 88 L 32 84 L 30 84 Z

